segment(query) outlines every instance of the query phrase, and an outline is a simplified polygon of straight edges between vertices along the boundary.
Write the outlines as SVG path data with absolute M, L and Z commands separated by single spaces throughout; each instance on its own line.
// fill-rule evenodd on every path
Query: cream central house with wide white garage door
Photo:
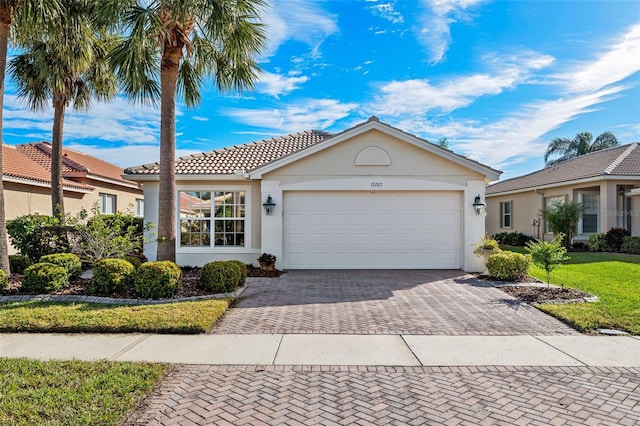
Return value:
M 157 223 L 159 165 L 125 173 L 144 183 L 145 219 Z M 176 261 L 256 264 L 267 252 L 281 269 L 479 271 L 473 203 L 500 173 L 375 117 L 181 157 Z M 145 253 L 155 259 L 156 244 Z

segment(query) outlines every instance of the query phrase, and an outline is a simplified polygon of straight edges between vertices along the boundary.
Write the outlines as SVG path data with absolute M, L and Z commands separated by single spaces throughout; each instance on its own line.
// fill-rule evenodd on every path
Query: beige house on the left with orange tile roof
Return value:
M 102 213 L 131 209 L 142 216 L 142 189 L 122 178 L 122 168 L 72 149 L 63 148 L 63 155 L 66 213 L 90 211 L 97 202 Z M 2 172 L 7 220 L 25 214 L 52 213 L 51 144 L 3 144 Z

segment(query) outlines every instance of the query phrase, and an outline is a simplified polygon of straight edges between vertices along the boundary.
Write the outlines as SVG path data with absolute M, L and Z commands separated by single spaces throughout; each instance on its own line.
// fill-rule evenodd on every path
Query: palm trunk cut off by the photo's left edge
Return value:
M 11 11 L 0 8 L 0 143 L 2 139 L 2 109 L 4 107 L 4 76 L 7 69 L 7 43 L 9 41 L 9 27 L 11 26 Z M 9 267 L 9 241 L 7 239 L 7 217 L 4 211 L 4 183 L 2 181 L 2 149 L 0 147 L 0 269 L 7 275 L 11 273 Z

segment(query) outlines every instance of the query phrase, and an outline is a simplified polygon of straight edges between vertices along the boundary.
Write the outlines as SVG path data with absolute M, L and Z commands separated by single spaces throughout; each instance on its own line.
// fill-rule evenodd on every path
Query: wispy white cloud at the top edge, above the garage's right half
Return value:
M 485 0 L 422 0 L 425 7 L 418 38 L 429 51 L 429 61 L 441 62 L 451 43 L 449 26 L 466 19 L 467 9 Z

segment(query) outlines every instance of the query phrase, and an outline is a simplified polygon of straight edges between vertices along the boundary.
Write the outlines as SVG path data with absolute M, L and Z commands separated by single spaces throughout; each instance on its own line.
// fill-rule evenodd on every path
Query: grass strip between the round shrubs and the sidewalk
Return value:
M 0 332 L 206 333 L 231 299 L 118 306 L 74 302 L 0 304 Z

